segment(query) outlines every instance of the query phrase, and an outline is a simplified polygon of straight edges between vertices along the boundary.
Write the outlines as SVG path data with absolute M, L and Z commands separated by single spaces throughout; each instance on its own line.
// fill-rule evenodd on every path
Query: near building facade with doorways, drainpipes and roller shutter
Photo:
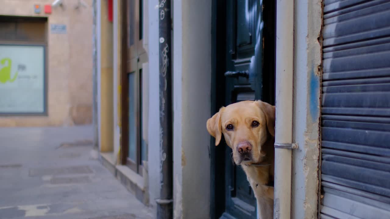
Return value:
M 169 2 L 96 4 L 101 160 L 139 200 L 159 218 L 256 218 L 206 121 L 261 99 L 291 146 L 275 149 L 275 218 L 389 217 L 389 1 Z

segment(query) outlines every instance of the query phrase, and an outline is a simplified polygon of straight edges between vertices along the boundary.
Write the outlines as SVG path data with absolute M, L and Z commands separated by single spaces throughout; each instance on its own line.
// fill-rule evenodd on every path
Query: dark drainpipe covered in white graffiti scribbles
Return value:
M 172 165 L 172 65 L 171 65 L 171 1 L 159 1 L 159 58 L 160 58 L 160 198 L 157 218 L 173 217 Z

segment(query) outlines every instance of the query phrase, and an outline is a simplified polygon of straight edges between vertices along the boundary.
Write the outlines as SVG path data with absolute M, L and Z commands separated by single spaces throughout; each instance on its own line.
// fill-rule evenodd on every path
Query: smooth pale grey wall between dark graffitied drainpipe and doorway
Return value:
M 173 8 L 174 218 L 209 218 L 211 1 Z

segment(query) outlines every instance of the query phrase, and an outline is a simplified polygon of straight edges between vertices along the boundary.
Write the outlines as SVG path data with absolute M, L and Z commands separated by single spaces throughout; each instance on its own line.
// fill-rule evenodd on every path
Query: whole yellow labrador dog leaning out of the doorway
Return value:
M 241 165 L 252 187 L 259 219 L 273 218 L 275 106 L 262 101 L 241 101 L 222 107 L 207 120 L 207 131 L 215 137 L 222 133 L 233 150 L 233 159 Z

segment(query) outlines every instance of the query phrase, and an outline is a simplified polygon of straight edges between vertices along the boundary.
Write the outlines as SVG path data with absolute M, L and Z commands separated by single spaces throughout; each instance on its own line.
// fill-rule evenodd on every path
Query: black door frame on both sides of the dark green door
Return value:
M 226 53 L 226 42 L 218 40 L 225 37 L 226 28 L 226 2 L 225 0 L 212 0 L 211 7 L 211 115 L 214 115 L 225 103 L 225 77 L 226 71 L 225 56 L 218 57 L 217 53 Z M 263 5 L 265 2 L 263 1 Z M 273 81 L 273 83 L 263 83 L 262 100 L 275 105 L 275 60 L 276 60 L 276 1 L 266 5 L 263 10 L 262 19 L 264 23 L 263 37 L 273 44 L 264 45 L 264 63 L 272 62 L 273 65 L 262 66 L 262 72 L 273 72 L 273 74 L 263 74 L 262 80 Z M 222 9 L 222 10 L 221 10 Z M 267 10 L 269 9 L 269 10 Z M 273 31 L 270 31 L 273 30 Z M 217 83 L 218 81 L 218 83 Z M 225 157 L 218 154 L 225 154 L 225 139 L 222 137 L 220 146 L 215 146 L 215 138 L 210 136 L 210 218 L 219 218 L 225 212 Z M 221 186 L 223 185 L 223 186 Z

